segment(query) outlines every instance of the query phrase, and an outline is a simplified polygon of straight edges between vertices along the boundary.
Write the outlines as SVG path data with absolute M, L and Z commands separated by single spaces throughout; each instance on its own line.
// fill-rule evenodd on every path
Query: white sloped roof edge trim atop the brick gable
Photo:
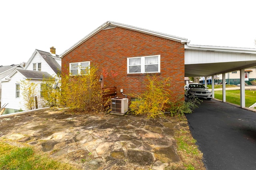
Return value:
M 121 28 L 125 28 L 125 29 L 130 29 L 130 30 L 133 30 L 133 31 L 138 31 L 138 32 L 141 32 L 141 33 L 146 33 L 146 34 L 149 34 L 149 35 L 154 35 L 154 36 L 157 36 L 157 37 L 162 37 L 162 38 L 165 38 L 165 39 L 170 39 L 170 40 L 177 41 L 177 42 L 180 42 L 180 43 L 183 43 L 183 44 L 186 44 L 187 41 L 188 41 L 188 39 L 182 38 L 182 37 L 176 37 L 176 36 L 173 36 L 173 35 L 159 33 L 159 32 L 156 32 L 156 31 L 150 31 L 148 29 L 138 28 L 138 27 L 134 27 L 134 26 L 131 26 L 131 25 L 125 25 L 125 24 L 122 24 L 122 23 L 116 23 L 116 22 L 112 22 L 112 21 L 107 21 L 103 25 L 101 25 L 100 27 L 98 27 L 97 29 L 92 31 L 90 34 L 88 34 L 86 37 L 84 37 L 83 39 L 78 41 L 72 47 L 70 47 L 69 49 L 64 51 L 64 53 L 62 53 L 59 57 L 60 58 L 64 57 L 70 51 L 72 51 L 73 49 L 75 49 L 76 47 L 78 47 L 79 45 L 84 43 L 86 40 L 88 40 L 90 37 L 94 36 L 96 33 L 100 32 L 101 30 L 109 29 L 109 28 L 112 28 L 112 27 L 121 27 Z

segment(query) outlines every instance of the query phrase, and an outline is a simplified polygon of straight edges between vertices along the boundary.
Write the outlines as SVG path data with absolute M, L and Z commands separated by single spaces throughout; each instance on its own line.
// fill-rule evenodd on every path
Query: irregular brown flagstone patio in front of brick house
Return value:
M 39 147 L 85 170 L 163 170 L 180 161 L 173 137 L 180 123 L 168 116 L 149 120 L 43 109 L 0 117 L 0 127 L 0 137 Z

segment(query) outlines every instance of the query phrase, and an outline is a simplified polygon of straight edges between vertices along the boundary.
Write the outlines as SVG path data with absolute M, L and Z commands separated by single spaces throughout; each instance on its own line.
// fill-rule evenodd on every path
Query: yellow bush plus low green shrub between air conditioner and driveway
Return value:
M 164 112 L 170 112 L 172 116 L 181 116 L 198 107 L 202 100 L 189 97 L 188 102 L 184 101 L 184 96 L 176 100 L 171 99 L 171 91 L 168 90 L 170 78 L 157 80 L 156 76 L 148 76 L 146 91 L 136 96 L 136 101 L 130 104 L 130 110 L 135 115 L 146 115 L 148 118 L 164 116 Z

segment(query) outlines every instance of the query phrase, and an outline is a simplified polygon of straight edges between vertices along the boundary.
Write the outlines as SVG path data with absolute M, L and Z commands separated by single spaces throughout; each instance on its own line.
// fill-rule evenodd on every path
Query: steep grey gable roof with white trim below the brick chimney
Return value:
M 41 51 L 41 50 L 38 50 L 38 49 L 36 49 L 34 51 L 33 55 L 28 60 L 28 63 L 24 67 L 25 70 L 28 67 L 28 65 L 30 64 L 30 62 L 32 61 L 32 59 L 34 58 L 34 56 L 36 55 L 36 53 L 39 53 L 39 55 L 42 57 L 42 59 L 44 59 L 44 61 L 46 61 L 46 63 L 50 66 L 50 68 L 52 68 L 52 70 L 56 74 L 58 74 L 61 71 L 61 66 L 56 61 L 56 60 L 61 60 L 60 58 L 58 58 L 59 57 L 58 55 L 56 55 L 56 57 L 54 57 L 54 56 L 51 55 L 51 53 Z

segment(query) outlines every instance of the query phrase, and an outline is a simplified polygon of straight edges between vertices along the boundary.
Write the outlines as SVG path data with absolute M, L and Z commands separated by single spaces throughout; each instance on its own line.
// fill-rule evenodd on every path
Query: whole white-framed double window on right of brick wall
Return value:
M 160 55 L 127 58 L 127 73 L 160 72 Z

